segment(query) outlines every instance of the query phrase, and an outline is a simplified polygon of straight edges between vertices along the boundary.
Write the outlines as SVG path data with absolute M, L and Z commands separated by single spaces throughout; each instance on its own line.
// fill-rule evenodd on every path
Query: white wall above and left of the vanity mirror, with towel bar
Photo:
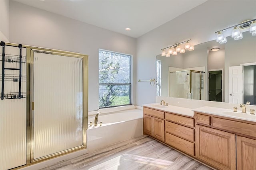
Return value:
M 255 11 L 255 0 L 208 0 L 142 35 L 137 39 L 137 77 L 150 79 L 156 76 L 156 55 L 162 48 L 187 39 L 192 39 L 190 42 L 194 45 L 214 40 L 214 32 L 256 18 Z M 226 33 L 230 34 L 229 31 Z M 137 83 L 136 90 L 137 105 L 156 102 L 156 86 Z

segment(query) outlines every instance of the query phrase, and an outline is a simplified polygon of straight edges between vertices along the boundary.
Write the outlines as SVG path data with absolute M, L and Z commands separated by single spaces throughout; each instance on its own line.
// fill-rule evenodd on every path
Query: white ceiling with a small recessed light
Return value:
M 137 38 L 207 0 L 15 1 Z

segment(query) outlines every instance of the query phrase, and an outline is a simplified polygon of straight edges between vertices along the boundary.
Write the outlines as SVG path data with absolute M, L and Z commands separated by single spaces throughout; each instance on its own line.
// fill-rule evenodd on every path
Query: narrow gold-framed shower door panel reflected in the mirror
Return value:
M 191 96 L 192 99 L 200 100 L 200 72 L 191 71 Z

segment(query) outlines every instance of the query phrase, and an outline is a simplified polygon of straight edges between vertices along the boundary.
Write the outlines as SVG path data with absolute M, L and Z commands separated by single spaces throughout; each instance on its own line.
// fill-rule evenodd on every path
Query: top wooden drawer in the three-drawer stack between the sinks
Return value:
M 194 119 L 189 117 L 184 117 L 180 115 L 175 115 L 172 113 L 165 113 L 165 119 L 167 121 L 172 121 L 181 125 L 185 125 L 188 127 L 194 127 Z

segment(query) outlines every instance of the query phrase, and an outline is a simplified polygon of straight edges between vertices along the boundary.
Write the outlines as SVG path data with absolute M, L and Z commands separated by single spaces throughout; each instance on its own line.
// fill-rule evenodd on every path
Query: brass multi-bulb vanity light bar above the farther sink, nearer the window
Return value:
M 188 39 L 188 40 L 183 41 L 183 42 L 181 42 L 181 43 L 176 43 L 176 44 L 174 44 L 174 45 L 171 45 L 171 46 L 169 46 L 169 47 L 166 47 L 166 48 L 164 48 L 164 49 L 161 49 L 161 50 L 162 50 L 162 54 L 161 54 L 161 55 L 162 55 L 162 56 L 166 56 L 166 57 L 170 57 L 170 54 L 172 54 L 172 55 L 177 55 L 178 52 L 180 52 L 180 53 L 185 53 L 186 50 L 188 50 L 188 51 L 194 50 L 194 46 L 193 46 L 193 45 L 190 45 L 189 41 L 191 41 L 191 39 Z M 184 43 L 186 43 L 186 44 L 184 45 L 184 48 L 183 48 L 183 47 L 181 47 L 180 45 L 181 45 L 181 44 L 184 44 Z M 165 52 L 165 49 L 168 49 L 168 52 L 167 52 L 167 53 Z

